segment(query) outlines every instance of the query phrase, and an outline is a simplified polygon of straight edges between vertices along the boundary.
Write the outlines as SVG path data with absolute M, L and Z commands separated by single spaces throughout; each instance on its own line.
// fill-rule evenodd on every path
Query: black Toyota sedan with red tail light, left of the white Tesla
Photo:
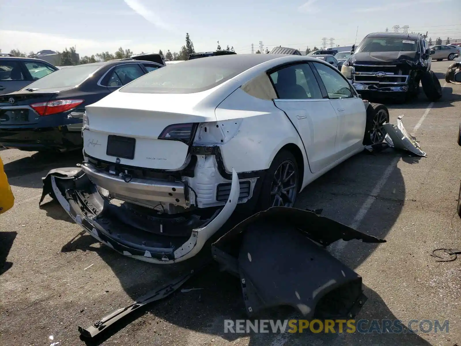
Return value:
M 133 59 L 69 66 L 0 95 L 0 147 L 79 149 L 85 106 L 161 67 L 157 62 Z

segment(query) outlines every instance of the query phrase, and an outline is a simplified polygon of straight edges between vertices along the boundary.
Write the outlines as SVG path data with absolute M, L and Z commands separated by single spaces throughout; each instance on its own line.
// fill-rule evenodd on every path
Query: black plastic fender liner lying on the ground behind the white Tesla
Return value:
M 232 228 L 212 253 L 240 277 L 248 316 L 291 306 L 306 318 L 352 318 L 366 297 L 361 276 L 325 250 L 339 239 L 385 242 L 311 211 L 272 207 Z

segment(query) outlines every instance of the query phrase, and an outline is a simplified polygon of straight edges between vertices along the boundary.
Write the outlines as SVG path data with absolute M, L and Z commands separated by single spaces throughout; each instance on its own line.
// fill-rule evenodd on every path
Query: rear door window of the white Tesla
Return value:
M 279 99 L 321 99 L 319 84 L 307 64 L 284 67 L 270 75 Z

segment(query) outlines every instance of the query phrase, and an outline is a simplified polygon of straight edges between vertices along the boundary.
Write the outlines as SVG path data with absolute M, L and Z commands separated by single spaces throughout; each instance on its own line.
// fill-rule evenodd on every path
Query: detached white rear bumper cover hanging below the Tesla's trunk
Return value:
M 224 208 L 205 221 L 184 219 L 184 227 L 191 229 L 187 237 L 181 232 L 174 234 L 174 229 L 168 232 L 168 227 L 181 227 L 177 222 L 142 218 L 123 206 L 112 205 L 100 195 L 96 185 L 80 168 L 58 168 L 48 172 L 43 178 L 40 203 L 48 194 L 57 199 L 67 214 L 101 243 L 128 257 L 169 264 L 195 256 L 222 227 L 236 207 L 240 186 L 237 173 L 232 170 L 231 193 Z M 159 234 L 163 227 L 165 235 Z

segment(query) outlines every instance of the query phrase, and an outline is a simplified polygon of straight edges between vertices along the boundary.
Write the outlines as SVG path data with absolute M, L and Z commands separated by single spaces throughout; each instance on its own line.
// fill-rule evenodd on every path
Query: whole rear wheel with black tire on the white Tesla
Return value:
M 284 170 L 287 167 L 289 172 L 285 174 Z M 286 179 L 289 175 L 290 179 Z M 295 156 L 288 150 L 280 150 L 275 155 L 271 166 L 264 176 L 256 211 L 266 210 L 272 206 L 293 207 L 299 191 L 300 180 L 298 163 Z M 278 182 L 281 184 L 278 184 Z M 292 185 L 294 187 L 287 190 Z M 281 202 L 280 198 L 283 202 L 282 205 L 278 204 Z

